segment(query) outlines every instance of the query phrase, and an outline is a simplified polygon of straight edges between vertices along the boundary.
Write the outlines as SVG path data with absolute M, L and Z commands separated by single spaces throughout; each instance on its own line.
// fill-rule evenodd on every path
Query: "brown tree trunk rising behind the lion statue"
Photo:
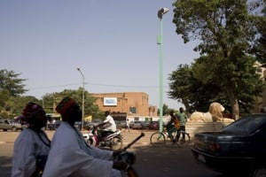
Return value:
M 232 113 L 232 118 L 233 119 L 239 119 L 239 102 L 237 97 L 235 96 L 235 93 L 231 86 L 228 86 L 226 88 L 227 90 L 227 95 L 229 97 L 230 103 L 231 103 L 231 113 Z

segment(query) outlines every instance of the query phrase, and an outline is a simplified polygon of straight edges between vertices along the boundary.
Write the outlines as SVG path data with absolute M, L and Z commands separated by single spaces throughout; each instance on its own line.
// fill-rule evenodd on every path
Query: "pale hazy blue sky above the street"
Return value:
M 160 34 L 163 27 L 163 104 L 168 75 L 199 54 L 184 44 L 173 24 L 172 0 L 3 0 L 0 1 L 0 69 L 27 79 L 25 96 L 82 87 L 89 93 L 145 92 L 160 105 Z

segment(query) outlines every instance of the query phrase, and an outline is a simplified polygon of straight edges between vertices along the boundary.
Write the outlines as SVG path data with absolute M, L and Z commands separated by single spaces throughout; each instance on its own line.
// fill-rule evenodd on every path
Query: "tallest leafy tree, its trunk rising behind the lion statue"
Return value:
M 177 0 L 173 5 L 177 35 L 184 43 L 200 40 L 194 50 L 200 51 L 201 58 L 193 66 L 193 75 L 204 84 L 225 89 L 238 119 L 241 96 L 259 96 L 263 86 L 255 58 L 248 53 L 256 31 L 246 1 Z

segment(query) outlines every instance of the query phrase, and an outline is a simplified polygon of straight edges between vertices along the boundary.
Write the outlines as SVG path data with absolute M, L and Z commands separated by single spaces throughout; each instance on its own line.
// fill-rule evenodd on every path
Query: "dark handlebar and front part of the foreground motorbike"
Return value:
M 133 167 L 133 165 L 136 163 L 136 153 L 135 152 L 129 152 L 127 151 L 131 145 L 133 145 L 135 142 L 137 142 L 141 137 L 145 136 L 144 133 L 141 133 L 141 135 L 137 136 L 135 140 L 130 142 L 125 148 L 121 150 L 121 153 L 119 153 L 116 157 L 114 157 L 117 160 L 122 160 L 124 163 L 126 163 L 127 167 L 126 169 L 121 172 L 123 177 L 138 177 L 137 171 Z

